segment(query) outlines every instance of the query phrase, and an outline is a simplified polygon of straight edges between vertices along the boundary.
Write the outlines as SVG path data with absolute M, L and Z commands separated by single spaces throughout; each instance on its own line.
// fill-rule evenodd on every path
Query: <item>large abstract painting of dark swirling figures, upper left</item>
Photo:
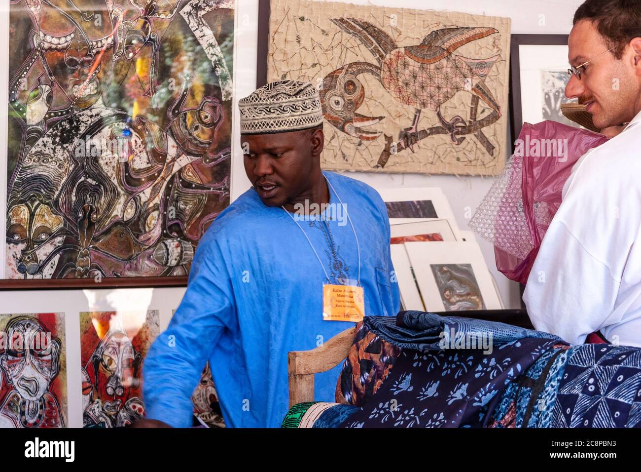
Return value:
M 233 0 L 10 0 L 5 279 L 188 274 L 229 204 Z

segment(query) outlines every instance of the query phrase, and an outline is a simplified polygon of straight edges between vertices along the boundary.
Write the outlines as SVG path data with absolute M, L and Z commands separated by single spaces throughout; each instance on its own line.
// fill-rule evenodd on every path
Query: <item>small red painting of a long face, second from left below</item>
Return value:
M 83 427 L 126 426 L 145 414 L 142 364 L 158 311 L 80 313 Z

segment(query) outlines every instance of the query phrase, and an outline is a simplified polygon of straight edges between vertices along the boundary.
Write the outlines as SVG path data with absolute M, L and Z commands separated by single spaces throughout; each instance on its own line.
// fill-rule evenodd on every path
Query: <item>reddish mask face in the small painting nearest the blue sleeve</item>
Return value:
M 115 331 L 105 335 L 94 353 L 94 365 L 97 365 L 96 390 L 108 414 L 117 414 L 129 392 L 138 386 L 139 362 L 140 355 L 126 333 Z

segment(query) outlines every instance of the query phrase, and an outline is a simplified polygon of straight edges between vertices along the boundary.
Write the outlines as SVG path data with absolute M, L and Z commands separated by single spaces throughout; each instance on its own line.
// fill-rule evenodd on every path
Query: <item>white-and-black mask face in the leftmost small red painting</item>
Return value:
M 0 358 L 4 374 L 23 399 L 42 398 L 58 373 L 58 341 L 30 317 L 11 322 L 7 336 L 12 343 Z

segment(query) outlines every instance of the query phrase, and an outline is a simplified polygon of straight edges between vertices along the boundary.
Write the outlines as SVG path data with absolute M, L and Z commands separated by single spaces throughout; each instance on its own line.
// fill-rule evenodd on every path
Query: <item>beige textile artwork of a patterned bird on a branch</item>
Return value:
M 272 0 L 268 80 L 315 83 L 329 170 L 498 175 L 510 19 Z

